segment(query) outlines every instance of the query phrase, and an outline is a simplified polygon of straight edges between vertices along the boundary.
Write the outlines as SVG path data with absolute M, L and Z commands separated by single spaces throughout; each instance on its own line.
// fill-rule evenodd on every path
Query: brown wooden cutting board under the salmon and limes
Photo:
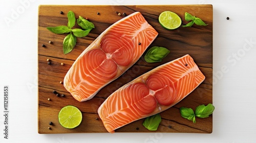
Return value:
M 46 27 L 60 25 L 67 26 L 69 11 L 75 13 L 76 18 L 88 17 L 94 23 L 95 29 L 83 38 L 77 38 L 74 50 L 65 55 L 62 51 L 62 41 L 67 34 L 54 34 Z M 60 11 L 63 14 L 60 14 Z M 162 62 L 147 63 L 144 61 L 144 54 L 130 69 L 122 76 L 102 88 L 96 96 L 86 102 L 76 101 L 71 94 L 63 87 L 63 81 L 67 71 L 76 58 L 99 36 L 106 28 L 123 18 L 116 13 L 127 15 L 139 11 L 145 19 L 159 33 L 156 40 L 150 45 L 163 46 L 170 50 Z M 163 29 L 158 16 L 163 11 L 173 11 L 182 19 L 182 25 L 187 21 L 184 13 L 188 12 L 208 23 L 206 27 L 194 25 L 191 28 L 180 27 L 168 31 Z M 97 14 L 99 12 L 100 14 Z M 74 28 L 80 28 L 75 25 Z M 52 41 L 52 44 L 49 43 Z M 42 47 L 45 44 L 45 47 Z M 149 49 L 149 48 L 148 48 Z M 102 133 L 107 132 L 104 128 L 97 109 L 101 103 L 127 82 L 146 73 L 147 71 L 172 61 L 176 58 L 189 54 L 194 58 L 205 81 L 185 99 L 160 113 L 162 122 L 157 131 L 149 131 L 142 125 L 144 119 L 135 121 L 123 126 L 115 132 L 182 132 L 182 133 L 211 133 L 212 115 L 208 118 L 196 118 L 197 123 L 181 117 L 179 108 L 189 107 L 195 109 L 198 105 L 212 103 L 212 5 L 167 5 L 167 6 L 39 6 L 38 10 L 38 133 Z M 51 64 L 48 64 L 47 59 Z M 63 65 L 61 65 L 63 63 Z M 60 95 L 57 97 L 53 91 Z M 50 99 L 50 100 L 48 100 Z M 82 112 L 82 122 L 74 129 L 63 128 L 58 122 L 58 112 L 67 105 L 78 107 Z M 98 120 L 96 120 L 98 118 Z M 53 125 L 49 125 L 52 122 Z M 50 129 L 48 129 L 50 127 Z

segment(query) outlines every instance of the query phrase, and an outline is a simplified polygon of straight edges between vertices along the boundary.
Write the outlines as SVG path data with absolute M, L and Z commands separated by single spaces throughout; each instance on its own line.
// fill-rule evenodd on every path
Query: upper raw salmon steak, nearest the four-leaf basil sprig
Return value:
M 80 102 L 92 99 L 138 61 L 157 35 L 140 12 L 120 19 L 76 59 L 63 80 L 64 87 Z

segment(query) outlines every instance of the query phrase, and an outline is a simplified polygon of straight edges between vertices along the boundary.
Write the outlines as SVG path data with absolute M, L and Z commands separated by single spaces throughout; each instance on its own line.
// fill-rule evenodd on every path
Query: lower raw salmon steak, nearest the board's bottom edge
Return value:
M 109 132 L 160 113 L 185 98 L 205 79 L 194 60 L 185 55 L 160 65 L 113 92 L 98 108 Z

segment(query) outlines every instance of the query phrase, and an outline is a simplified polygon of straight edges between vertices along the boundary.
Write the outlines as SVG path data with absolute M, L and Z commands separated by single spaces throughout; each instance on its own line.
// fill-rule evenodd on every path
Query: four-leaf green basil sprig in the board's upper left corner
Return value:
M 72 29 L 75 26 L 76 18 L 73 11 L 69 11 L 68 14 L 68 26 L 57 26 L 57 27 L 47 27 L 47 29 L 55 34 L 69 33 L 63 39 L 63 53 L 70 53 L 76 45 L 76 37 L 84 37 L 89 34 L 89 32 L 94 28 L 94 24 L 82 16 L 77 19 L 77 24 L 82 29 Z

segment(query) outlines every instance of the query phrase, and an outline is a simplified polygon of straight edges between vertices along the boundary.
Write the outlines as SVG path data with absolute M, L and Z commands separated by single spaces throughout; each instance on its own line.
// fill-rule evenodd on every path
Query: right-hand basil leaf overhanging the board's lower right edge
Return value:
M 214 112 L 214 105 L 208 104 L 207 106 L 205 105 L 200 105 L 197 106 L 195 113 L 197 117 L 205 118 L 208 117 L 212 112 Z

